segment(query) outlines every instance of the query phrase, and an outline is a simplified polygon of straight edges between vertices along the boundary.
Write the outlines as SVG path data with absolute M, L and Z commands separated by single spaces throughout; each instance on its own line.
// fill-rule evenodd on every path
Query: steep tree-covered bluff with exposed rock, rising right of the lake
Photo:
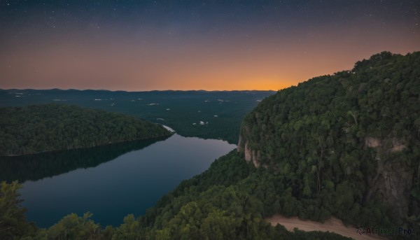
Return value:
M 420 52 L 381 52 L 280 90 L 244 118 L 238 151 L 293 183 L 297 198 L 345 192 L 345 209 L 376 204 L 416 223 Z

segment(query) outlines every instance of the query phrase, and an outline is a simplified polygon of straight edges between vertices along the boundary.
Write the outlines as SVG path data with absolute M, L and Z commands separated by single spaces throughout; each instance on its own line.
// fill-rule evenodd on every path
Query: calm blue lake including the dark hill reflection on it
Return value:
M 235 148 L 226 141 L 174 134 L 167 139 L 1 157 L 0 181 L 23 182 L 21 205 L 38 227 L 87 211 L 102 226 L 118 226 L 127 214 L 143 215 L 182 180 L 202 173 Z

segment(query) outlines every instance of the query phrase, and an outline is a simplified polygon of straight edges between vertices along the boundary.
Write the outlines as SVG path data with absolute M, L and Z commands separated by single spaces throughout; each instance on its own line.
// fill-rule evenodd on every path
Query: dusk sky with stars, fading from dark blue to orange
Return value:
M 419 51 L 419 13 L 419 0 L 0 0 L 0 88 L 280 90 Z

